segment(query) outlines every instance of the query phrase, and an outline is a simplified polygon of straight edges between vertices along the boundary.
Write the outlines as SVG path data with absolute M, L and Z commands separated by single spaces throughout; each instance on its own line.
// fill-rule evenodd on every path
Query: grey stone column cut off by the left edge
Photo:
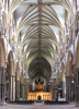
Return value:
M 5 68 L 0 66 L 0 106 L 5 105 Z

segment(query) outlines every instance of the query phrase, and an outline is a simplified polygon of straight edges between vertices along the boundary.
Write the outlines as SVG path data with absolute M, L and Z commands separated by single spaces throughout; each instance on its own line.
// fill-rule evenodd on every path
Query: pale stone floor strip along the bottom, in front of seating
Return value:
M 1 107 L 0 109 L 79 109 L 79 107 L 75 107 L 75 105 L 64 105 L 64 106 L 47 106 L 43 104 L 35 105 L 7 105 Z

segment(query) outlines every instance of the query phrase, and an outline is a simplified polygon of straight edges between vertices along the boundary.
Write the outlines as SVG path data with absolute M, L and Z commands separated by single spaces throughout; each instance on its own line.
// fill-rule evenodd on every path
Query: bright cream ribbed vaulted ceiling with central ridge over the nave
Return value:
M 43 57 L 52 66 L 59 40 L 65 36 L 68 13 L 72 13 L 70 0 L 11 0 L 10 13 L 12 12 L 27 71 L 37 57 Z M 43 62 L 40 63 L 43 66 L 38 65 L 38 62 L 37 69 L 36 63 L 33 64 L 33 75 L 40 73 L 40 68 L 41 72 L 45 73 L 43 75 L 48 76 L 50 71 L 46 70 L 47 66 L 43 65 Z

